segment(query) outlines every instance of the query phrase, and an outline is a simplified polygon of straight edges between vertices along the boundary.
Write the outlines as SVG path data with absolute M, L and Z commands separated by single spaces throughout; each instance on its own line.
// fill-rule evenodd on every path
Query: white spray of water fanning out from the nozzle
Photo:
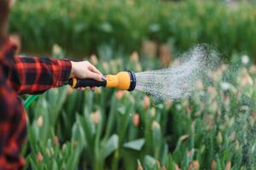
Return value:
M 137 72 L 136 89 L 157 99 L 187 97 L 195 88 L 195 82 L 217 65 L 218 54 L 206 45 L 198 45 L 182 55 L 179 65 L 158 71 Z

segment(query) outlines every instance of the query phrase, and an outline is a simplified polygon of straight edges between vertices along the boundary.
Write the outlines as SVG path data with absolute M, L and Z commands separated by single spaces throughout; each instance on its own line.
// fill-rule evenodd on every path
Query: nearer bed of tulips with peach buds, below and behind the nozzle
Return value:
M 130 59 L 107 62 L 92 56 L 90 61 L 108 73 L 157 68 L 147 64 L 154 59 L 144 62 L 136 53 Z M 237 55 L 232 64 L 207 72 L 206 80 L 195 84 L 191 97 L 175 101 L 104 88 L 94 93 L 69 87 L 49 90 L 27 109 L 26 166 L 254 168 L 255 76 L 256 66 Z

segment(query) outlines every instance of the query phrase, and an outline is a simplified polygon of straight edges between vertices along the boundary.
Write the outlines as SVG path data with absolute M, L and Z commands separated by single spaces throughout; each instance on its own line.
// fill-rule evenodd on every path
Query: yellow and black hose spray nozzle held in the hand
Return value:
M 121 71 L 116 75 L 106 75 L 106 81 L 99 82 L 91 78 L 73 77 L 67 82 L 72 88 L 104 87 L 133 91 L 136 87 L 136 76 L 132 71 Z

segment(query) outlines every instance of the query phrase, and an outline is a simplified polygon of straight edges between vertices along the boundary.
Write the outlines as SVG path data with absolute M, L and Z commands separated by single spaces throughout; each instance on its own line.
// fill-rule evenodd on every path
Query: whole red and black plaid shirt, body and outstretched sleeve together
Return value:
M 0 49 L 0 170 L 20 169 L 26 140 L 26 113 L 19 94 L 42 94 L 67 81 L 71 62 L 60 59 L 15 57 L 15 45 Z

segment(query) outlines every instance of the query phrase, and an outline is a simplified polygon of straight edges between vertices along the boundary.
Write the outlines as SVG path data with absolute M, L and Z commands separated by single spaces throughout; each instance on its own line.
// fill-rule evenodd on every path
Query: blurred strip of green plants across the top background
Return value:
M 219 1 L 23 0 L 13 8 L 10 29 L 32 53 L 48 54 L 54 43 L 71 54 L 96 53 L 109 43 L 130 53 L 152 40 L 170 42 L 177 53 L 207 42 L 224 57 L 238 52 L 253 58 L 254 8 L 255 3 Z

